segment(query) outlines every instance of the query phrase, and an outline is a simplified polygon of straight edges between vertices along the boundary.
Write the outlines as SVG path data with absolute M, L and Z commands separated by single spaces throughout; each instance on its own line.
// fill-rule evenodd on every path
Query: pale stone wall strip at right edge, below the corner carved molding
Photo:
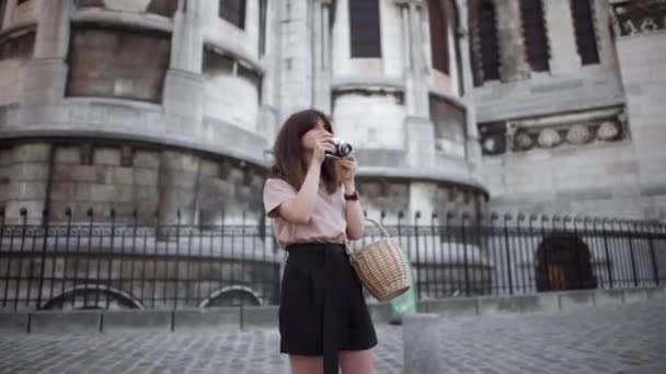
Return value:
M 618 8 L 623 4 L 619 3 Z M 666 4 L 629 3 L 617 24 L 620 72 L 627 92 L 628 114 L 636 160 L 638 189 L 646 215 L 666 220 Z

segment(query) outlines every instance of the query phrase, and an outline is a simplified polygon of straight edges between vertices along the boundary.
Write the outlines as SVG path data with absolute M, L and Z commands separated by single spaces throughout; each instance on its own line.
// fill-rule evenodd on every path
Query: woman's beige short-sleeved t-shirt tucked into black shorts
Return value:
M 337 243 L 347 238 L 347 219 L 342 188 L 330 195 L 320 185 L 314 211 L 310 222 L 298 224 L 287 221 L 277 209 L 283 202 L 292 199 L 298 191 L 289 183 L 279 178 L 268 178 L 264 185 L 264 207 L 273 219 L 273 233 L 277 244 L 286 247 L 292 243 Z

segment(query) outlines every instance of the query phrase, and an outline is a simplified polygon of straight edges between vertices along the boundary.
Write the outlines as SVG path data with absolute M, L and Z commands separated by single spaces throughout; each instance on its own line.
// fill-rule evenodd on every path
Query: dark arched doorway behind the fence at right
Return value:
M 537 249 L 537 291 L 596 289 L 589 248 L 577 236 L 546 238 Z

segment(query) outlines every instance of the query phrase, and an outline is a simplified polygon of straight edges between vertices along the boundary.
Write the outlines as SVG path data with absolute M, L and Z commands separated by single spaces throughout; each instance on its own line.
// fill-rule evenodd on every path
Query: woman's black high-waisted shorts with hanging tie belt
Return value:
M 282 281 L 280 352 L 335 355 L 366 350 L 377 335 L 358 277 L 340 244 L 291 244 Z M 325 363 L 324 363 L 325 365 Z

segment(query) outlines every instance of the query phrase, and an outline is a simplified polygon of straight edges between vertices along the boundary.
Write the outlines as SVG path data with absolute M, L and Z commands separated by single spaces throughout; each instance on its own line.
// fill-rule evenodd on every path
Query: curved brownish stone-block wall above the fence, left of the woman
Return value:
M 0 153 L 0 191 L 8 222 L 38 223 L 48 200 L 50 220 L 66 223 L 116 222 L 141 225 L 261 222 L 264 168 L 245 162 L 159 150 L 147 144 L 27 143 Z M 50 183 L 49 183 L 50 175 Z M 89 215 L 92 208 L 93 215 Z M 156 215 L 157 214 L 157 215 Z M 156 221 L 157 219 L 157 221 Z

